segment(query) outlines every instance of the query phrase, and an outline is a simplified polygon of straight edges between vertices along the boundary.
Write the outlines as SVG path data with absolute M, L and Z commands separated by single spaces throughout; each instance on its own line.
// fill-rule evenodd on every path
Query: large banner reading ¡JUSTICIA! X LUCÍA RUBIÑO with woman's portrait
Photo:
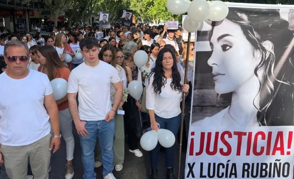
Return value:
M 230 5 L 197 32 L 185 178 L 292 179 L 294 6 Z

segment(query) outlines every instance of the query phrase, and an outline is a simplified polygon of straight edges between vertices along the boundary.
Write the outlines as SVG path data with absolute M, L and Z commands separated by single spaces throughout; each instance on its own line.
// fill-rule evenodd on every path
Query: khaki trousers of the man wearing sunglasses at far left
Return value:
M 51 134 L 24 146 L 1 145 L 6 173 L 11 179 L 26 179 L 30 160 L 34 179 L 48 179 Z

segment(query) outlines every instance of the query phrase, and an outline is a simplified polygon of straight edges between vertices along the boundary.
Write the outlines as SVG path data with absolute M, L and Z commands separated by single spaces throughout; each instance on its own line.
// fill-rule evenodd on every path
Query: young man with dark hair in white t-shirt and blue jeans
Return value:
M 83 178 L 95 179 L 94 148 L 98 137 L 103 178 L 115 179 L 112 174 L 114 115 L 122 99 L 123 84 L 117 70 L 98 59 L 99 43 L 96 38 L 82 39 L 80 48 L 85 60 L 72 70 L 67 92 L 69 110 L 81 141 Z M 116 91 L 113 106 L 110 100 L 111 84 Z

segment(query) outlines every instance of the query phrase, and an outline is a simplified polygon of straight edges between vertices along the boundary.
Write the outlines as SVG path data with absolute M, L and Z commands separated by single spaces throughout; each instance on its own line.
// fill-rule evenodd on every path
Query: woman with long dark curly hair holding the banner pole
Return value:
M 167 129 L 174 135 L 181 125 L 182 94 L 188 93 L 183 73 L 178 71 L 176 54 L 171 48 L 159 51 L 155 67 L 151 70 L 146 92 L 146 108 L 149 111 L 151 130 Z M 158 134 L 159 135 L 159 134 Z M 157 179 L 160 144 L 150 151 L 150 179 Z M 166 148 L 166 178 L 174 178 L 174 145 Z

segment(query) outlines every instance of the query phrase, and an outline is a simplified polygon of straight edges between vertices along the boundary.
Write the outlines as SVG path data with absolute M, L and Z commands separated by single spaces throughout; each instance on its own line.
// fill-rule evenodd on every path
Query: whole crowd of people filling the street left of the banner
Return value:
M 66 142 L 64 177 L 73 178 L 73 123 L 82 148 L 84 179 L 94 179 L 94 168 L 102 164 L 103 177 L 115 179 L 112 171 L 123 169 L 125 139 L 131 153 L 143 156 L 138 145 L 141 117 L 145 128 L 164 128 L 177 135 L 182 95 L 188 94 L 191 104 L 192 78 L 188 75 L 184 79 L 184 69 L 193 74 L 194 60 L 194 46 L 188 49 L 184 44 L 182 29 L 116 25 L 105 30 L 103 39 L 98 37 L 99 31 L 93 26 L 76 26 L 54 27 L 46 37 L 39 32 L 35 36 L 0 35 L 4 54 L 0 83 L 5 84 L 0 86 L 0 93 L 6 94 L 0 98 L 0 163 L 4 159 L 0 179 L 33 177 L 26 176 L 28 163 L 35 179 L 48 178 L 50 151 L 45 148 L 55 153 L 61 135 Z M 138 50 L 148 54 L 141 68 L 133 59 Z M 83 59 L 75 57 L 78 52 Z M 65 54 L 72 57 L 70 63 L 65 62 Z M 67 95 L 59 100 L 54 100 L 50 85 L 55 78 L 68 81 Z M 142 82 L 146 96 L 136 100 L 127 95 L 123 100 L 124 89 L 133 80 Z M 118 114 L 122 110 L 124 115 Z M 158 178 L 159 149 L 158 143 L 150 152 L 151 179 Z M 174 177 L 170 157 L 174 152 L 174 146 L 166 148 L 167 179 Z

